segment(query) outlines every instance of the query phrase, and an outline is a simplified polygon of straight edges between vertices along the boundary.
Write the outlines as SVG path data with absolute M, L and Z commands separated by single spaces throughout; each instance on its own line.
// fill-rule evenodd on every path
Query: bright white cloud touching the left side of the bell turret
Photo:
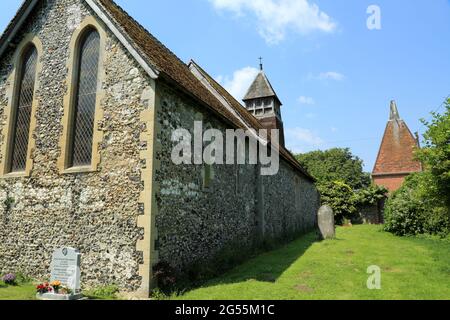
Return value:
M 244 95 L 247 93 L 253 80 L 255 80 L 258 72 L 259 70 L 256 68 L 245 67 L 235 71 L 232 77 L 218 76 L 216 80 L 231 93 L 233 97 L 240 101 L 244 98 Z

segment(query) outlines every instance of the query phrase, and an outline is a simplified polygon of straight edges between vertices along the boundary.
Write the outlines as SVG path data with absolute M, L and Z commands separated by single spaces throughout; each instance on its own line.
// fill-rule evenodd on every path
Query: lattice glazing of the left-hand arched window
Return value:
M 24 51 L 19 63 L 19 82 L 17 94 L 14 97 L 15 102 L 12 113 L 9 172 L 23 172 L 26 170 L 37 60 L 36 47 L 30 45 Z

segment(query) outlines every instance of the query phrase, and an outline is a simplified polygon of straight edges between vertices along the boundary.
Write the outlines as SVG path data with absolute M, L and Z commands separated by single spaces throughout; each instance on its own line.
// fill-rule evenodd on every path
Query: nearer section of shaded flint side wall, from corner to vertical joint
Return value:
M 158 121 L 162 150 L 157 196 L 158 251 L 160 261 L 181 270 L 198 260 L 206 260 L 227 243 L 237 239 L 250 246 L 255 232 L 255 167 L 215 165 L 214 181 L 203 189 L 202 165 L 175 165 L 171 160 L 173 130 L 184 128 L 193 134 L 194 121 L 225 130 L 216 117 L 188 98 L 182 98 L 158 82 L 161 99 Z M 239 178 L 237 178 L 237 170 Z M 237 179 L 239 185 L 237 186 Z

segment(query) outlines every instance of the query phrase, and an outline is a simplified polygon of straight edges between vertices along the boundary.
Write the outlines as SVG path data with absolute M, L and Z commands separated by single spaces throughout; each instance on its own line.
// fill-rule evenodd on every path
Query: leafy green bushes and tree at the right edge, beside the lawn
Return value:
M 409 176 L 386 204 L 385 229 L 397 235 L 450 233 L 450 99 L 428 127 L 416 157 L 424 172 Z

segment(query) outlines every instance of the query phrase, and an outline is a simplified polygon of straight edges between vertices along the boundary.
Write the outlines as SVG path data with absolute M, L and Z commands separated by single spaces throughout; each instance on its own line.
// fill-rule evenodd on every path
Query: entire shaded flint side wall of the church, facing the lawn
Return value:
M 191 99 L 158 82 L 161 99 L 158 121 L 162 150 L 157 196 L 158 251 L 160 261 L 178 270 L 210 259 L 222 249 L 252 248 L 264 229 L 270 239 L 307 232 L 315 228 L 319 196 L 314 183 L 281 160 L 280 172 L 262 177 L 264 218 L 258 212 L 258 170 L 254 165 L 214 165 L 211 188 L 203 189 L 202 165 L 174 165 L 171 133 L 203 121 L 203 130 L 224 125 Z M 224 133 L 225 136 L 225 133 Z

